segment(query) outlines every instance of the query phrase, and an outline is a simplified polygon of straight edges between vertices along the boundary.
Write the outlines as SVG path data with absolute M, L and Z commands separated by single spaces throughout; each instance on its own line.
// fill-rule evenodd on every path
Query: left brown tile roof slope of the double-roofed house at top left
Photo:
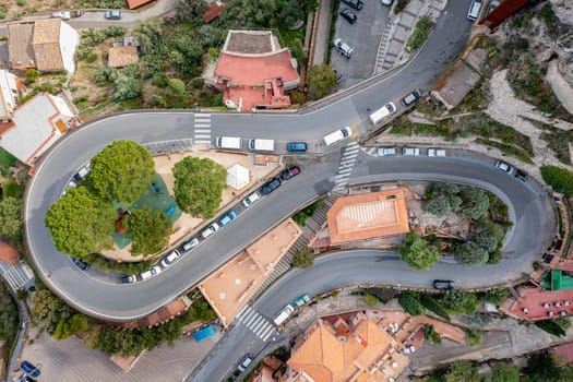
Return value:
M 13 69 L 34 68 L 34 22 L 8 23 L 8 59 Z

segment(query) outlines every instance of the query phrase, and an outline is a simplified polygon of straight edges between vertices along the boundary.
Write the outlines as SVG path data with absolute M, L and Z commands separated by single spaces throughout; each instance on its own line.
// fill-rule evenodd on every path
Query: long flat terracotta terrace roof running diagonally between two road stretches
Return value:
M 224 325 L 261 287 L 301 232 L 293 219 L 280 223 L 199 285 Z

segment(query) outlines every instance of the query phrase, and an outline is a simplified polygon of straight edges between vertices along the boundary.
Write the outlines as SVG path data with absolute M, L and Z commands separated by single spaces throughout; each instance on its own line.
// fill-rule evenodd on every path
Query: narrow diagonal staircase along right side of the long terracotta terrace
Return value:
M 277 278 L 283 276 L 290 270 L 290 262 L 295 256 L 295 253 L 308 247 L 310 240 L 317 235 L 317 232 L 326 223 L 326 213 L 336 201 L 336 195 L 331 194 L 324 199 L 324 204 L 321 208 L 314 211 L 314 214 L 307 218 L 307 225 L 302 227 L 302 235 L 295 241 L 293 247 L 287 253 L 276 263 L 273 272 L 266 277 L 261 287 L 255 291 L 251 298 L 251 302 L 255 301 L 268 288 Z

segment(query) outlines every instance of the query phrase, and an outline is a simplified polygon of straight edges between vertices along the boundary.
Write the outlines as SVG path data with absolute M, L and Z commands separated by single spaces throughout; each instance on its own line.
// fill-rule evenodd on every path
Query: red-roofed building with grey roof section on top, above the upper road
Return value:
M 223 91 L 229 108 L 251 112 L 290 106 L 286 91 L 298 87 L 297 61 L 271 31 L 229 31 L 205 82 Z

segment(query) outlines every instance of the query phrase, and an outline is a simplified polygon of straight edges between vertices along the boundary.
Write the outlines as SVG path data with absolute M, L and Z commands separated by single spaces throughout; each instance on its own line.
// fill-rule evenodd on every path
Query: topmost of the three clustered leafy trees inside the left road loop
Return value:
M 152 155 L 133 141 L 115 141 L 92 159 L 89 184 L 107 200 L 134 202 L 155 175 Z

